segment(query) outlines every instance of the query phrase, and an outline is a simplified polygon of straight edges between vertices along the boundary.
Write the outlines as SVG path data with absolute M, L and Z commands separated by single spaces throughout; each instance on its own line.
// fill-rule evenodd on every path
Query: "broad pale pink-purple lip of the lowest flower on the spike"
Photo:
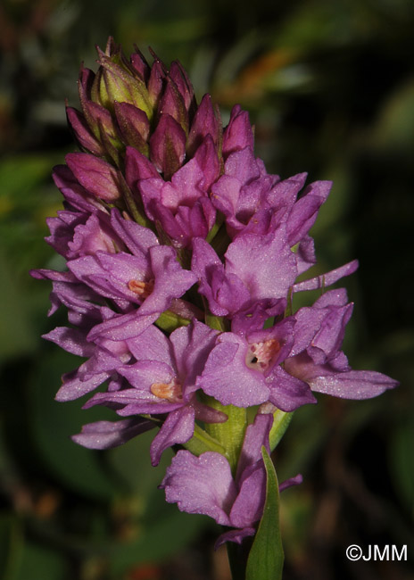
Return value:
M 179 451 L 161 483 L 166 500 L 178 509 L 205 514 L 221 526 L 229 526 L 228 510 L 236 498 L 236 485 L 228 460 L 215 452 L 195 457 Z

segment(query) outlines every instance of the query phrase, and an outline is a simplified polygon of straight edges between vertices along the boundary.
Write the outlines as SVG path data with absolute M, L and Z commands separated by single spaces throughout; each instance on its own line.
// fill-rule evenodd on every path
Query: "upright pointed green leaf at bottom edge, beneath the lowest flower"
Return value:
M 280 580 L 283 571 L 283 547 L 279 526 L 279 487 L 269 453 L 261 448 L 266 468 L 266 503 L 246 567 L 246 580 Z

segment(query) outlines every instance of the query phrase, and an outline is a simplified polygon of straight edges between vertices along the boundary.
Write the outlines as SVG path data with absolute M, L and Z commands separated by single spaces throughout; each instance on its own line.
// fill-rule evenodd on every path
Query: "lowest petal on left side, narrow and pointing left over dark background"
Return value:
M 96 421 L 84 425 L 81 432 L 72 435 L 71 439 L 87 449 L 112 449 L 153 427 L 155 423 L 144 418 L 127 418 L 115 422 Z

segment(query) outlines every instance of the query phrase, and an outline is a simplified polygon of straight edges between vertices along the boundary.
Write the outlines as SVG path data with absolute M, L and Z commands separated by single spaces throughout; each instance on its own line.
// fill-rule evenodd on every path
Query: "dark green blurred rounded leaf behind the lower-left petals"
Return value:
M 98 460 L 102 452 L 87 450 L 70 439 L 83 423 L 108 418 L 108 413 L 102 407 L 92 412 L 81 410 L 79 400 L 64 404 L 54 401 L 62 370 L 76 368 L 79 362 L 78 357 L 60 350 L 39 360 L 29 393 L 31 427 L 38 450 L 54 476 L 79 493 L 95 499 L 109 498 L 115 487 Z

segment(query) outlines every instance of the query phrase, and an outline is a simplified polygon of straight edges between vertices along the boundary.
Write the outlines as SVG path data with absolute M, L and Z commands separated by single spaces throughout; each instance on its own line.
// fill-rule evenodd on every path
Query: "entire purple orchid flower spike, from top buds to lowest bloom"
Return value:
M 81 152 L 54 169 L 64 209 L 46 240 L 67 269 L 32 272 L 53 281 L 50 314 L 68 310 L 46 339 L 87 359 L 56 398 L 104 385 L 84 406 L 119 420 L 73 439 L 105 449 L 156 429 L 153 465 L 178 449 L 167 501 L 228 526 L 218 543 L 241 543 L 263 512 L 261 449 L 292 411 L 313 392 L 365 399 L 396 382 L 352 370 L 341 350 L 352 303 L 327 288 L 357 262 L 296 282 L 316 263 L 309 231 L 330 182 L 270 175 L 247 112 L 236 105 L 222 128 L 178 62 L 128 60 L 112 39 L 98 55 L 96 73 L 80 71 L 81 112 L 67 108 Z M 294 293 L 318 288 L 293 311 Z

